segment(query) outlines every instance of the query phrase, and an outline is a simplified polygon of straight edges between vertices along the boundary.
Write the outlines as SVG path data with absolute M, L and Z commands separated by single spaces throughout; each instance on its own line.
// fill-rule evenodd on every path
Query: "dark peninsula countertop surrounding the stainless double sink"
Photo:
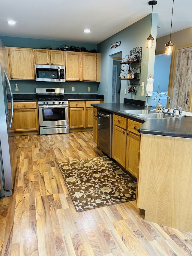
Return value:
M 127 103 L 104 103 L 91 104 L 101 110 L 115 113 L 120 116 L 130 117 L 131 119 L 143 122 L 138 132 L 141 134 L 153 134 L 169 137 L 192 138 L 192 116 L 182 118 L 167 118 L 167 119 L 142 119 L 139 116 L 130 115 L 128 113 L 119 112 L 120 110 L 145 109 L 143 106 L 127 104 Z M 155 107 L 149 107 L 153 109 Z

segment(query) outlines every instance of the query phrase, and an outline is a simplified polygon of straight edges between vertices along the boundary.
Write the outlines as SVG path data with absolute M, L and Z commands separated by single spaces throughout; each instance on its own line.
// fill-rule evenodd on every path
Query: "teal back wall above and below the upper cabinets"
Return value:
M 18 38 L 18 37 L 8 37 L 1 36 L 0 39 L 2 43 L 7 47 L 22 47 L 22 48 L 49 48 L 52 50 L 57 50 L 58 47 L 63 48 L 65 45 L 75 46 L 75 47 L 85 47 L 87 50 L 97 50 L 97 44 L 85 44 L 77 42 L 62 42 L 54 40 L 42 40 L 33 38 Z M 11 89 L 13 93 L 36 93 L 35 88 L 37 87 L 58 87 L 64 88 L 66 94 L 96 94 L 98 89 L 98 83 L 96 82 L 65 82 L 65 83 L 46 83 L 46 82 L 36 82 L 27 80 L 10 80 Z M 19 92 L 15 92 L 15 83 L 19 86 Z M 72 87 L 75 87 L 75 92 L 72 92 Z M 91 92 L 88 92 L 88 87 L 91 87 Z

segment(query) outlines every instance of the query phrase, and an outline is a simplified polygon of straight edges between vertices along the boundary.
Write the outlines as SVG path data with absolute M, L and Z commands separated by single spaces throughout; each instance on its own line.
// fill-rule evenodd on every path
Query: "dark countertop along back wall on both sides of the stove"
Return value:
M 103 101 L 104 95 L 99 94 L 65 94 L 64 97 L 69 101 Z M 13 101 L 37 101 L 36 94 L 13 94 Z

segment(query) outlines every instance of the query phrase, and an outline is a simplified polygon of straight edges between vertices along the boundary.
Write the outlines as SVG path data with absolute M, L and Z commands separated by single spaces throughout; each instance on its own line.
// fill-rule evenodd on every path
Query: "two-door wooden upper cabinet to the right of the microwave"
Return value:
M 100 82 L 101 54 L 65 52 L 66 80 Z

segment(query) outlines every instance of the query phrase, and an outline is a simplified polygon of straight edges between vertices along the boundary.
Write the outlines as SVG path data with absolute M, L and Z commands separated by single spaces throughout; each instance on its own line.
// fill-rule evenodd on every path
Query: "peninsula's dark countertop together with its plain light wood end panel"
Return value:
M 145 209 L 147 221 L 192 232 L 192 117 L 146 120 L 123 112 L 144 106 L 127 103 L 92 106 L 143 122 L 138 129 L 141 135 L 137 206 Z

